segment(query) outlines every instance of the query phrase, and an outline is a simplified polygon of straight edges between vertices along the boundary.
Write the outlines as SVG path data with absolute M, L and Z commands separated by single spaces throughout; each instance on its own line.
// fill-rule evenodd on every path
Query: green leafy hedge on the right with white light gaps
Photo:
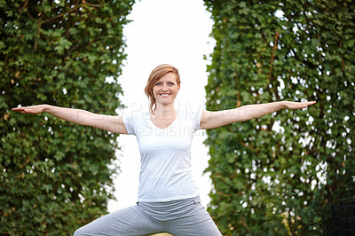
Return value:
M 209 212 L 226 235 L 332 233 L 330 209 L 355 198 L 355 4 L 205 5 L 217 40 L 209 110 L 317 101 L 208 130 Z

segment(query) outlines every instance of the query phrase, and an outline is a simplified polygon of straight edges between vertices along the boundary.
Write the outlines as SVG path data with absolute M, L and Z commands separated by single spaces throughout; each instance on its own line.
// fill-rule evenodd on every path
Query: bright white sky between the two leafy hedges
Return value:
M 119 83 L 124 95 L 122 102 L 130 111 L 148 111 L 144 93 L 146 80 L 154 67 L 167 63 L 177 67 L 181 89 L 175 106 L 204 106 L 207 84 L 206 65 L 215 45 L 209 37 L 212 20 L 202 0 L 142 0 L 133 6 L 128 16 L 133 20 L 124 28 L 128 55 Z M 121 111 L 121 114 L 123 111 Z M 201 203 L 209 203 L 211 184 L 209 175 L 202 176 L 208 166 L 208 148 L 202 144 L 205 131 L 199 130 L 193 138 L 193 177 L 200 189 Z M 122 150 L 117 151 L 121 173 L 115 177 L 114 193 L 117 201 L 108 202 L 108 211 L 130 207 L 138 198 L 140 156 L 135 136 L 118 138 Z

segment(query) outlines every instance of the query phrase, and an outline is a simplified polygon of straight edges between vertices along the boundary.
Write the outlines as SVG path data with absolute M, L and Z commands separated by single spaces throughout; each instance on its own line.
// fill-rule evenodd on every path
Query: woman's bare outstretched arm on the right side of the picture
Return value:
M 254 118 L 272 114 L 280 109 L 301 109 L 316 102 L 280 101 L 265 104 L 241 106 L 231 110 L 209 112 L 204 111 L 201 116 L 201 128 L 213 129 L 233 122 L 244 122 Z

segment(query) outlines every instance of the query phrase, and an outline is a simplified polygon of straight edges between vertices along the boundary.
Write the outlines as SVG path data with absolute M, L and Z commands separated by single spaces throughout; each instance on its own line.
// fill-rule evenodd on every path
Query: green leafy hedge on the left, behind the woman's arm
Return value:
M 11 108 L 115 114 L 133 2 L 0 0 L 0 234 L 68 235 L 106 214 L 117 136 Z

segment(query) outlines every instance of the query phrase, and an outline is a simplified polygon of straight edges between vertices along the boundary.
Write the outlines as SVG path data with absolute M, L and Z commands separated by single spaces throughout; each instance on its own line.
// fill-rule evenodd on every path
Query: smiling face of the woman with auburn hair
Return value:
M 180 90 L 180 85 L 177 84 L 176 75 L 173 73 L 163 75 L 153 87 L 156 103 L 173 103 L 174 99 L 177 97 L 178 90 Z

